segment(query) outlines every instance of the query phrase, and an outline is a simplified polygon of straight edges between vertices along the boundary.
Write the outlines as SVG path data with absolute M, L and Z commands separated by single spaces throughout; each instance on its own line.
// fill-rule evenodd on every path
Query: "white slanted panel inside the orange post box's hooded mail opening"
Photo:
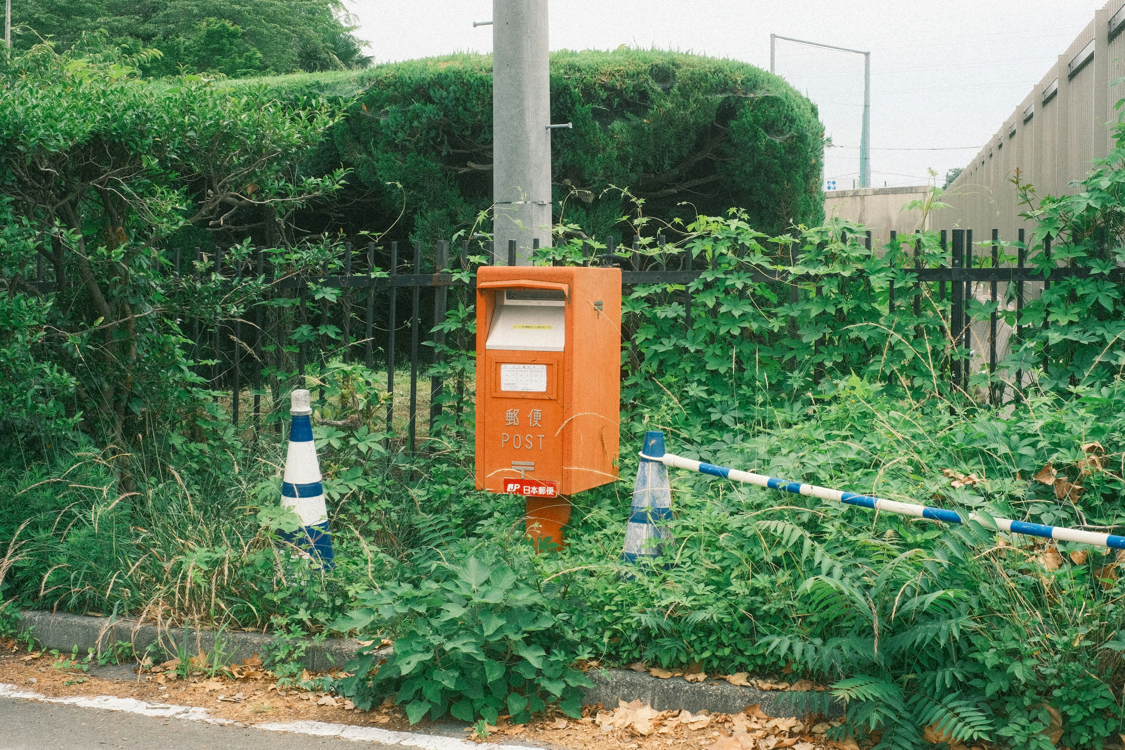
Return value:
M 566 295 L 555 289 L 503 289 L 486 349 L 562 351 L 566 342 Z

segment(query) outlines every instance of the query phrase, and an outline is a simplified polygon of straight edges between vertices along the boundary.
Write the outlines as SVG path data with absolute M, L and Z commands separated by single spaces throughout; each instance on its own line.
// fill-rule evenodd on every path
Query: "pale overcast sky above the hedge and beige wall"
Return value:
M 770 68 L 770 34 L 871 55 L 872 185 L 963 167 L 1105 0 L 549 0 L 551 50 L 621 44 Z M 492 52 L 490 0 L 352 0 L 378 62 Z M 863 56 L 777 42 L 776 72 L 820 108 L 825 178 L 860 171 Z

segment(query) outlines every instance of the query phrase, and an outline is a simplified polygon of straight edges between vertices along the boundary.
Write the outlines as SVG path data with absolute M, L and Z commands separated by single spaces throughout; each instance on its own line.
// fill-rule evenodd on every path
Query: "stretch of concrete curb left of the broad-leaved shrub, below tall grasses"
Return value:
M 130 619 L 111 620 L 107 617 L 90 617 L 70 613 L 52 614 L 38 609 L 25 609 L 19 614 L 20 632 L 32 631 L 44 649 L 70 651 L 78 646 L 80 654 L 87 649 L 109 651 L 115 643 L 124 641 L 133 644 L 133 652 L 143 655 L 145 651 L 154 658 L 161 654 L 172 658 L 180 649 L 191 655 L 200 651 L 212 654 L 218 640 L 225 663 L 241 663 L 255 653 L 262 658 L 274 648 L 277 640 L 266 633 L 217 632 L 197 628 L 158 627 L 148 623 Z M 354 639 L 325 639 L 322 643 L 297 641 L 305 644 L 303 661 L 312 672 L 324 672 L 343 666 L 356 655 L 360 648 Z

